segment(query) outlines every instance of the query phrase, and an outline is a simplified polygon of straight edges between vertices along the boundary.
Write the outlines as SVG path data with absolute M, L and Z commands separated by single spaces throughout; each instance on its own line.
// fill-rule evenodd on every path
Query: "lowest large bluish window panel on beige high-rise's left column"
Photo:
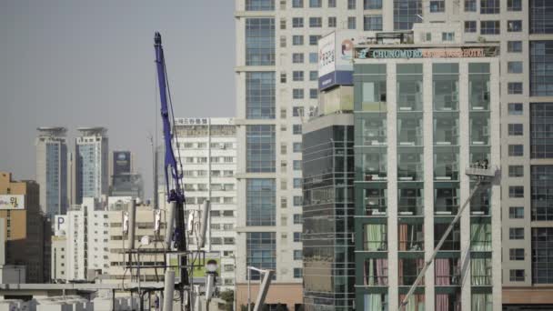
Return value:
M 246 266 L 260 269 L 277 269 L 277 234 L 274 232 L 246 233 Z M 259 272 L 250 271 L 252 280 L 261 278 Z

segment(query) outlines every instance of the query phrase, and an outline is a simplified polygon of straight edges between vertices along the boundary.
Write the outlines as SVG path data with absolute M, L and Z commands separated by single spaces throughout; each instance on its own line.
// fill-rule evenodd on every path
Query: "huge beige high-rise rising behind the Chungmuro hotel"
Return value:
M 239 156 L 243 160 L 238 163 L 238 206 L 244 206 L 238 208 L 238 216 L 246 216 L 246 184 L 250 179 L 269 179 L 275 185 L 275 195 L 270 194 L 275 204 L 266 205 L 275 220 L 267 222 L 268 226 L 239 225 L 245 232 L 237 240 L 238 248 L 245 249 L 243 258 L 248 250 L 247 236 L 253 242 L 252 233 L 263 233 L 267 238 L 250 243 L 249 249 L 257 246 L 267 250 L 266 262 L 277 269 L 276 285 L 299 282 L 290 277 L 288 269 L 301 264 L 284 261 L 291 247 L 280 241 L 281 230 L 296 229 L 278 223 L 282 216 L 289 216 L 289 209 L 277 208 L 276 202 L 283 196 L 288 201 L 294 196 L 295 190 L 287 187 L 290 181 L 281 179 L 296 178 L 295 174 L 300 177 L 300 173 L 277 174 L 275 166 L 293 161 L 293 154 L 280 151 L 283 145 L 300 143 L 301 137 L 294 133 L 298 133 L 301 120 L 294 115 L 317 102 L 312 98 L 317 97 L 317 66 L 311 63 L 317 63 L 318 37 L 335 29 L 393 32 L 410 30 L 423 21 L 437 26 L 460 23 L 456 31 L 421 33 L 417 40 L 437 43 L 462 36 L 464 43 L 498 43 L 503 301 L 515 308 L 528 301 L 552 304 L 541 289 L 552 282 L 548 240 L 553 230 L 547 222 L 553 167 L 553 130 L 549 125 L 553 106 L 552 15 L 553 3 L 548 0 L 237 0 L 236 124 L 238 145 L 245 149 L 238 150 L 244 155 Z M 260 137 L 267 142 L 263 148 L 254 143 Z M 259 152 L 252 153 L 256 146 Z M 253 161 L 254 155 L 259 155 L 257 161 Z M 253 162 L 266 167 L 255 167 Z M 279 271 L 281 267 L 287 274 Z M 237 268 L 237 282 L 243 283 L 246 265 Z

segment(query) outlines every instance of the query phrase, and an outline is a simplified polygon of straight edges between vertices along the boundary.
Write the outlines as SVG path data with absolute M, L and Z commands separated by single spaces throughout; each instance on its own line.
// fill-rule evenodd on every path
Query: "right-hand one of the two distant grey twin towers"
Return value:
M 80 127 L 75 140 L 75 204 L 83 197 L 100 198 L 108 191 L 107 129 Z

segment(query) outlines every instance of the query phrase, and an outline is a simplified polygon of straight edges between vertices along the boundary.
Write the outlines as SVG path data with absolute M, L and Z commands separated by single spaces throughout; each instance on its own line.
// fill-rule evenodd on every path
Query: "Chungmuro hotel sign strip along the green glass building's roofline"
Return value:
M 356 51 L 356 58 L 463 58 L 495 56 L 494 49 L 483 47 L 457 48 L 411 48 L 411 49 L 370 49 L 361 48 Z

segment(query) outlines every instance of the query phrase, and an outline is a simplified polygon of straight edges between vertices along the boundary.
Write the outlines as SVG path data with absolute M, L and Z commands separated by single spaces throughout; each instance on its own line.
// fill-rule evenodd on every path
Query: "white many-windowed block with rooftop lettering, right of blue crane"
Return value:
M 186 210 L 211 204 L 209 256 L 220 258 L 221 290 L 234 289 L 236 265 L 236 125 L 233 118 L 176 118 L 178 156 L 183 166 Z M 163 159 L 163 156 L 160 157 Z M 164 198 L 165 199 L 165 198 Z M 195 212 L 196 221 L 199 214 Z M 190 218 L 191 219 L 191 218 Z M 197 228 L 196 228 L 197 230 Z M 195 249 L 196 236 L 190 237 Z

